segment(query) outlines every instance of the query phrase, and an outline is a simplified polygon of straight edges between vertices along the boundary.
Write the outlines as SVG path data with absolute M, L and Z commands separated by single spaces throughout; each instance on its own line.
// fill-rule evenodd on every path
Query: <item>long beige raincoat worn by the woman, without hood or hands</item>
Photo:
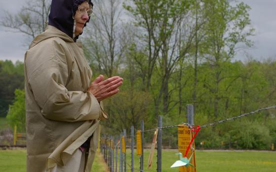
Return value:
M 91 171 L 99 121 L 107 118 L 86 92 L 91 77 L 81 45 L 66 33 L 48 26 L 33 40 L 25 54 L 27 172 L 66 165 L 93 134 L 85 162 Z

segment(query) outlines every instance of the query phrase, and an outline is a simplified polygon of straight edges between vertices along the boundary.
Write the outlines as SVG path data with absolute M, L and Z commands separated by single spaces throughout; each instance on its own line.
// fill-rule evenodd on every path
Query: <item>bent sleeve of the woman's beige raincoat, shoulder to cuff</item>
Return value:
M 69 91 L 65 87 L 69 77 L 65 56 L 60 46 L 56 46 L 54 52 L 42 50 L 37 54 L 30 51 L 26 61 L 28 84 L 41 114 L 51 120 L 68 122 L 100 118 L 102 109 L 93 94 Z

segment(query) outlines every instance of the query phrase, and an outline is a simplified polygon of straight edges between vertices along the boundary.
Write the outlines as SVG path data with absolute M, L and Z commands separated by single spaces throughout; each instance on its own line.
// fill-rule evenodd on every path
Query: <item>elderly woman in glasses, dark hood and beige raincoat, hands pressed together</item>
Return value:
M 25 54 L 27 172 L 90 172 L 102 100 L 123 79 L 91 84 L 92 71 L 76 42 L 92 14 L 91 0 L 52 0 L 48 28 Z

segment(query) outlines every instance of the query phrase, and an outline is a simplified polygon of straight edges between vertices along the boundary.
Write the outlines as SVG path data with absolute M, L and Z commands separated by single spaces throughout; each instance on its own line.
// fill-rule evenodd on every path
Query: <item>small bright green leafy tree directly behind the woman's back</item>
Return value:
M 9 106 L 7 114 L 8 124 L 13 127 L 17 126 L 18 131 L 26 131 L 26 114 L 25 114 L 25 92 L 21 89 L 16 89 L 15 99 L 12 105 Z

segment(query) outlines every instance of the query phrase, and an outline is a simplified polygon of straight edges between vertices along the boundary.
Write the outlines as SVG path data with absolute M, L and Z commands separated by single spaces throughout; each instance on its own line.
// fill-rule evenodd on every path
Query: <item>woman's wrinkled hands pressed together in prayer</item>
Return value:
M 91 92 L 98 102 L 104 100 L 119 92 L 119 86 L 123 84 L 121 77 L 115 76 L 104 80 L 104 76 L 100 75 L 97 77 L 89 86 L 88 90 Z

